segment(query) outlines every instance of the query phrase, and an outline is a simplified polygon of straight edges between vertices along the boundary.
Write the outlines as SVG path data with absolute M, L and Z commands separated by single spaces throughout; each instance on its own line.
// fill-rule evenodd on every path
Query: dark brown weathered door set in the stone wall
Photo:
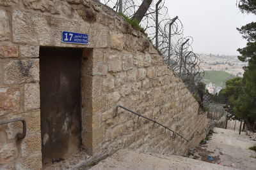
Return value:
M 79 152 L 81 49 L 40 48 L 42 161 L 46 167 Z

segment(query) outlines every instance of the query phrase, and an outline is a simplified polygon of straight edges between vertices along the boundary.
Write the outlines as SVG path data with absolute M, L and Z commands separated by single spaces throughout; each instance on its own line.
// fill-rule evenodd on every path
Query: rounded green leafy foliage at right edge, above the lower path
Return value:
M 247 80 L 247 81 L 246 81 Z M 254 71 L 244 73 L 244 78 L 233 78 L 226 82 L 226 88 L 220 92 L 221 103 L 233 120 L 244 120 L 248 129 L 255 129 L 256 122 L 256 67 Z

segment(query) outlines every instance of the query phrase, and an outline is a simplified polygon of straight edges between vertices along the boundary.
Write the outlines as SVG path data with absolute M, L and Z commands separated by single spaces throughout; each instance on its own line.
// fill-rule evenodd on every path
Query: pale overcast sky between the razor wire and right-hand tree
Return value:
M 194 38 L 196 53 L 238 55 L 237 48 L 246 41 L 236 30 L 254 15 L 242 14 L 236 0 L 166 0 L 170 17 L 179 16 L 184 25 L 184 36 Z

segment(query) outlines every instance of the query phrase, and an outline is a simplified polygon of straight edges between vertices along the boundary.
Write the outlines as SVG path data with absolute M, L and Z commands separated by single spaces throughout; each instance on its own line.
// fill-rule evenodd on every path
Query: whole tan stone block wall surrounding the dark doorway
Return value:
M 89 34 L 89 45 L 61 43 L 61 31 Z M 40 134 L 40 46 L 83 48 L 81 146 L 90 155 L 119 148 L 183 154 L 201 141 L 172 139 L 170 132 L 120 104 L 164 124 L 185 138 L 207 126 L 198 103 L 163 63 L 141 32 L 115 11 L 89 0 L 0 1 L 0 121 L 22 117 L 27 135 L 15 139 L 21 123 L 0 125 L 0 166 L 42 167 Z

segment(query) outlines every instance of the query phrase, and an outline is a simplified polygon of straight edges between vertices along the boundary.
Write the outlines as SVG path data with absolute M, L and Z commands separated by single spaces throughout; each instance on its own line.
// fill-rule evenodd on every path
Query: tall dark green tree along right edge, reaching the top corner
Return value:
M 256 15 L 255 0 L 240 0 L 238 8 L 243 13 Z M 248 42 L 244 48 L 237 51 L 238 59 L 248 62 L 244 67 L 243 90 L 233 102 L 234 113 L 244 120 L 248 129 L 256 129 L 256 22 L 251 22 L 237 29 Z

